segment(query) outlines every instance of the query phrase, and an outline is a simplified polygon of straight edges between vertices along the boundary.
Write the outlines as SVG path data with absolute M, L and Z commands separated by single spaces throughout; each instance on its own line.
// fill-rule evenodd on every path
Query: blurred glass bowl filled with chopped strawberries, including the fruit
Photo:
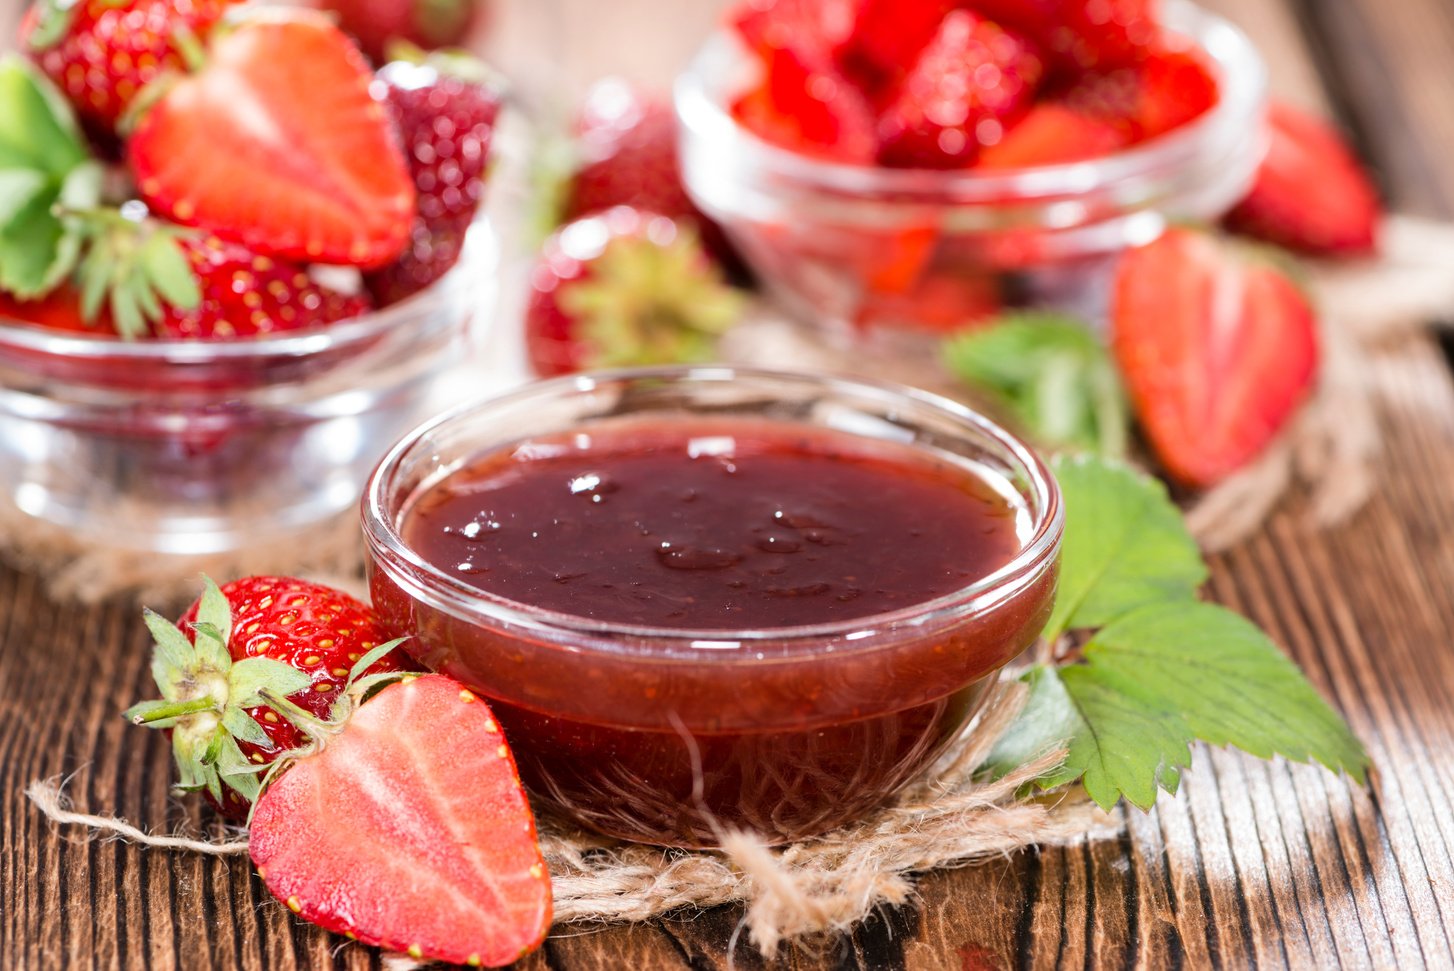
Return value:
M 797 315 L 922 346 L 1002 308 L 1099 317 L 1109 265 L 1221 217 L 1265 67 L 1156 0 L 752 0 L 678 78 L 686 188 Z

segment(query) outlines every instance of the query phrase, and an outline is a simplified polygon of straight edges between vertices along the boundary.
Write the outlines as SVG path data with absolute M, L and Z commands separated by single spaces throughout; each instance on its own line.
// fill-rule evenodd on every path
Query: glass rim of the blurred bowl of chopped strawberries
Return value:
M 1099 158 L 1025 166 L 1003 170 L 888 169 L 804 156 L 759 138 L 743 128 L 710 92 L 704 67 L 714 45 L 733 44 L 724 28 L 715 31 L 678 76 L 672 102 L 680 131 L 714 141 L 736 142 L 753 170 L 832 192 L 887 196 L 885 201 L 922 204 L 1013 202 L 1092 193 L 1124 182 L 1154 176 L 1221 128 L 1250 119 L 1266 94 L 1266 64 L 1256 45 L 1234 23 L 1189 0 L 1166 4 L 1166 25 L 1186 35 L 1217 71 L 1218 96 L 1211 110 L 1166 134 Z M 1216 49 L 1208 48 L 1208 39 Z M 721 145 L 718 145 L 721 147 Z

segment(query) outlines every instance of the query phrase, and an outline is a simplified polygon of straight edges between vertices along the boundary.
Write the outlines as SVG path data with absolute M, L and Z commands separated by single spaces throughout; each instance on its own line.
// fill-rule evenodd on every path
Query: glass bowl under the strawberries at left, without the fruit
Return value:
M 327 329 L 238 342 L 76 336 L 0 321 L 0 501 L 83 542 L 215 554 L 342 513 L 442 403 L 494 285 L 470 231 L 427 289 Z

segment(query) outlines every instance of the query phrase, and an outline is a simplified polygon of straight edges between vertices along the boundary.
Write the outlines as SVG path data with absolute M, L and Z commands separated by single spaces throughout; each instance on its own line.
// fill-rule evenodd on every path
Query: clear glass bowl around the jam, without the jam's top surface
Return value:
M 465 584 L 404 541 L 441 478 L 537 436 L 609 423 L 768 419 L 906 443 L 971 467 L 1021 504 L 1019 552 L 912 608 L 813 626 L 680 629 L 593 621 Z M 923 770 L 974 717 L 1054 597 L 1060 494 L 1008 432 L 893 385 L 726 366 L 526 385 L 397 445 L 362 507 L 369 587 L 409 650 L 491 701 L 537 799 L 611 836 L 710 846 L 720 827 L 823 833 Z

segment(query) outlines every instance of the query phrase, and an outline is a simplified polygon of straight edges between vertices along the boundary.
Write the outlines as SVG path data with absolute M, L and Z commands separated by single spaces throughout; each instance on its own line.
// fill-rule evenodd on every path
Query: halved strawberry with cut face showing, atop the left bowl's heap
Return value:
M 364 57 L 321 15 L 269 7 L 142 112 L 126 158 L 154 212 L 285 259 L 377 267 L 414 189 Z

